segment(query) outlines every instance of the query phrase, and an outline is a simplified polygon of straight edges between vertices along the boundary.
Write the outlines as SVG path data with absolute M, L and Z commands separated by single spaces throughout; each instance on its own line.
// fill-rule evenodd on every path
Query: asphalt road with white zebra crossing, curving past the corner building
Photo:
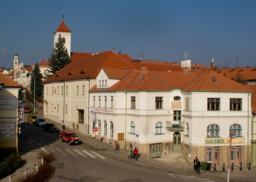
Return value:
M 27 116 L 28 114 L 24 114 L 25 121 Z M 186 176 L 175 176 L 116 161 L 82 145 L 68 145 L 67 142 L 59 140 L 59 133 L 49 133 L 30 122 L 23 123 L 23 132 L 24 136 L 42 151 L 54 155 L 54 173 L 49 182 L 185 182 L 188 180 Z M 189 178 L 190 182 L 198 181 L 198 179 L 194 180 Z M 202 180 L 212 182 L 209 179 L 200 179 Z

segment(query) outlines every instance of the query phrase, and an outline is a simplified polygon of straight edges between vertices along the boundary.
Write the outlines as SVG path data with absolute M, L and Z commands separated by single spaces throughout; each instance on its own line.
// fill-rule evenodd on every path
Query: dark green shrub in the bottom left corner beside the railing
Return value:
M 11 172 L 15 171 L 22 165 L 21 156 L 16 156 L 14 154 L 10 155 L 7 158 L 4 158 L 0 162 L 0 179 L 4 178 Z

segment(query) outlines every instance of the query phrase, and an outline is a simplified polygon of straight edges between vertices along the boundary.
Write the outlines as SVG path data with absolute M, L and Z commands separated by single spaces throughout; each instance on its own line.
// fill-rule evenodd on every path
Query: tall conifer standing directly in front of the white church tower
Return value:
M 55 43 L 55 47 L 52 50 L 50 58 L 48 59 L 49 72 L 53 74 L 60 71 L 63 67 L 71 62 L 67 48 L 62 43 L 62 38 L 59 34 L 58 41 Z M 51 75 L 50 75 L 51 76 Z

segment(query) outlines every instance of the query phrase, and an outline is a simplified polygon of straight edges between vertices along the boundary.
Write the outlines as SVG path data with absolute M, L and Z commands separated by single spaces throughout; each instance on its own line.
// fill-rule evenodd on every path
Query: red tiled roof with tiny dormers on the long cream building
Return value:
M 58 73 L 44 81 L 66 81 L 84 78 L 96 78 L 102 67 L 136 69 L 132 64 L 121 59 L 112 51 L 76 59 L 62 68 Z

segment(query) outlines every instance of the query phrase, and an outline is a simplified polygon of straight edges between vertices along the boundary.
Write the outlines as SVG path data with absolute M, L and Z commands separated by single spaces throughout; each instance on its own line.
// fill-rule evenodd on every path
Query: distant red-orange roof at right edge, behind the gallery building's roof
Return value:
M 216 72 L 230 78 L 235 79 L 237 73 L 239 73 L 245 80 L 256 80 L 256 68 L 231 68 L 231 69 L 220 69 Z

